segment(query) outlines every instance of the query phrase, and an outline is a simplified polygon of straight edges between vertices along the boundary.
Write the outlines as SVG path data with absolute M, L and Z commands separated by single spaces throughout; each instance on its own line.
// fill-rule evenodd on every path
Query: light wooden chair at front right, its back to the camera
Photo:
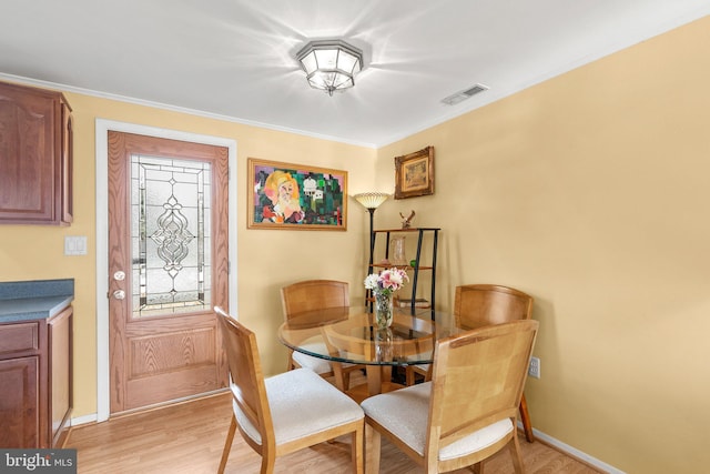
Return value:
M 504 447 L 524 473 L 516 418 L 538 324 L 514 321 L 443 339 L 429 382 L 366 399 L 367 472 L 379 471 L 385 435 L 427 473 L 479 472 Z

